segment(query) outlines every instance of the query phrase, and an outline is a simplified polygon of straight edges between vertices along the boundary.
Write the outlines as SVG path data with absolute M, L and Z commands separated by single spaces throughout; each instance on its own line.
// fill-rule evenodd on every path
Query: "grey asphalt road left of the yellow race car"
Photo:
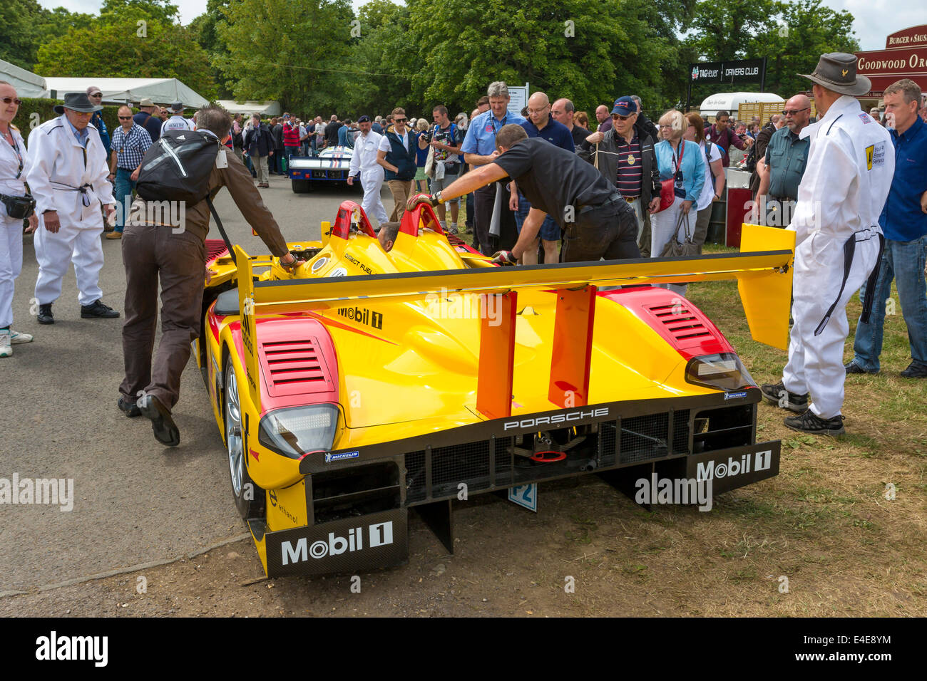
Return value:
M 287 241 L 318 239 L 320 222 L 333 221 L 341 201 L 361 198 L 346 185 L 296 195 L 289 181 L 277 176 L 270 189 L 260 191 Z M 386 188 L 383 197 L 391 209 Z M 218 196 L 216 208 L 233 242 L 250 253 L 266 252 L 227 191 Z M 210 237 L 220 238 L 214 227 Z M 103 301 L 121 311 L 120 245 L 103 240 L 100 286 Z M 116 408 L 122 319 L 82 320 L 71 270 L 54 306 L 56 323 L 39 325 L 31 304 L 37 274 L 32 237 L 26 236 L 14 328 L 35 340 L 15 346 L 12 358 L 0 359 L 0 593 L 170 559 L 245 533 L 193 360 L 174 410 L 181 444 L 164 448 L 149 421 L 127 419 Z M 3 479 L 12 482 L 14 475 L 20 481 L 71 479 L 72 510 L 8 503 Z

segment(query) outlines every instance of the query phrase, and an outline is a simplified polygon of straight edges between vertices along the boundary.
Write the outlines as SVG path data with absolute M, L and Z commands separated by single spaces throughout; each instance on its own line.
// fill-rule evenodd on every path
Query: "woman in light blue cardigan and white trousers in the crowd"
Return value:
M 676 232 L 676 223 L 682 215 L 683 225 L 689 221 L 689 233 L 695 228 L 695 212 L 690 211 L 698 202 L 705 184 L 705 158 L 699 145 L 682 139 L 689 123 L 681 111 L 672 108 L 659 121 L 660 142 L 654 146 L 656 163 L 660 169 L 660 180 L 676 178 L 676 195 L 673 204 L 651 216 L 650 257 L 660 258 L 660 253 Z M 685 227 L 679 228 L 677 241 L 685 241 Z M 684 284 L 663 284 L 666 288 L 685 295 Z

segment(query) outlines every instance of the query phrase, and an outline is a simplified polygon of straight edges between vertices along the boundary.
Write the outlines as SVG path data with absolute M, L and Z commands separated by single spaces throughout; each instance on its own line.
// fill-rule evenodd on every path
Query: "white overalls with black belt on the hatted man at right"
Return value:
M 810 393 L 811 411 L 832 419 L 844 404 L 846 303 L 881 257 L 879 215 L 895 149 L 888 132 L 849 95 L 799 136 L 811 146 L 788 227 L 795 232 L 794 325 L 782 384 Z

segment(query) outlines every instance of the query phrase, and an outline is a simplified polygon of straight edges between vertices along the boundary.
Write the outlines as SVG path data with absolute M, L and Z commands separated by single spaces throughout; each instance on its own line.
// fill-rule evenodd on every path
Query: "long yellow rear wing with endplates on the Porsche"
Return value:
M 252 260 L 240 246 L 235 246 L 242 340 L 251 398 L 260 408 L 255 314 L 340 308 L 349 301 L 372 304 L 413 301 L 451 293 L 509 296 L 523 289 L 590 291 L 591 286 L 736 279 L 753 338 L 760 343 L 786 349 L 794 232 L 744 224 L 741 238 L 740 253 L 694 258 L 609 260 L 259 282 L 253 280 Z M 359 291 L 364 293 L 357 293 Z M 510 296 L 509 300 L 514 305 L 514 296 Z M 591 307 L 594 308 L 594 303 Z M 504 333 L 504 330 L 493 333 Z M 514 340 L 514 335 L 507 340 Z

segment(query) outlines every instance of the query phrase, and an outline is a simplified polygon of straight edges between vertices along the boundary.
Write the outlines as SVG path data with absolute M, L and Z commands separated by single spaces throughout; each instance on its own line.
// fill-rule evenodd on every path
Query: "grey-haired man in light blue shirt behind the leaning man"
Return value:
M 464 145 L 461 146 L 464 161 L 471 170 L 481 168 L 499 156 L 496 150 L 496 133 L 502 129 L 503 125 L 525 122 L 521 116 L 508 110 L 511 97 L 505 82 L 489 83 L 487 95 L 489 110 L 470 121 L 470 127 L 466 129 Z M 481 106 L 480 102 L 477 102 L 477 107 Z M 474 192 L 474 233 L 480 251 L 484 255 L 489 255 L 496 250 L 490 241 L 490 233 L 493 233 L 502 246 L 511 247 L 514 244 L 514 214 L 509 208 L 509 199 L 505 195 L 504 184 L 478 186 L 479 188 Z M 493 224 L 498 228 L 493 230 Z

